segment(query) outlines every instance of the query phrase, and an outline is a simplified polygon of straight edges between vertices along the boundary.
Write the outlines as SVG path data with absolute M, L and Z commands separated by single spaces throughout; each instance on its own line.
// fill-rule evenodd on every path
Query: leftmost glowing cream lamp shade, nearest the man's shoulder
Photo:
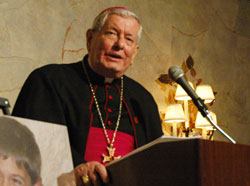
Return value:
M 181 104 L 169 104 L 165 114 L 165 122 L 183 122 L 185 121 L 184 112 Z

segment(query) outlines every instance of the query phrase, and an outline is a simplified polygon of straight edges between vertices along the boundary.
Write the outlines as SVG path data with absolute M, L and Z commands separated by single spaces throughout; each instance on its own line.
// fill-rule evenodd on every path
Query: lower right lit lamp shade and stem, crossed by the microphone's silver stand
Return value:
M 213 121 L 217 124 L 217 118 L 215 113 L 209 111 L 212 116 Z M 197 113 L 196 120 L 195 120 L 195 128 L 202 128 L 202 138 L 206 139 L 207 130 L 213 130 L 213 126 L 210 122 L 204 118 L 200 112 Z

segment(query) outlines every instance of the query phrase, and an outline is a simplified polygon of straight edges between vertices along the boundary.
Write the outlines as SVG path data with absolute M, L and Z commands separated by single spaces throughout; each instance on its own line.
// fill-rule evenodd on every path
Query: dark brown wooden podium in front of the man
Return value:
M 250 186 L 250 146 L 159 138 L 107 170 L 110 186 Z

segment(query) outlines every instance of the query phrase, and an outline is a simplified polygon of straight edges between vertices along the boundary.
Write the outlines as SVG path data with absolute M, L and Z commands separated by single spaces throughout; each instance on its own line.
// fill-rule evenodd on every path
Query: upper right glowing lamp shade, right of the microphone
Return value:
M 205 103 L 211 103 L 214 100 L 214 93 L 210 85 L 198 85 L 195 92 Z

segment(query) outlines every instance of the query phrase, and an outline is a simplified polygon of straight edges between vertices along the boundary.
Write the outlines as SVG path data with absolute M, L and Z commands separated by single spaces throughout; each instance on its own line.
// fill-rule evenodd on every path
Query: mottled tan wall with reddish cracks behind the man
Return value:
M 157 78 L 191 55 L 196 77 L 218 92 L 211 107 L 218 124 L 250 144 L 248 0 L 2 0 L 0 97 L 13 106 L 33 69 L 81 60 L 87 28 L 109 6 L 126 6 L 141 18 L 140 51 L 127 74 L 153 94 L 160 111 L 168 91 Z M 226 141 L 217 133 L 215 139 Z

